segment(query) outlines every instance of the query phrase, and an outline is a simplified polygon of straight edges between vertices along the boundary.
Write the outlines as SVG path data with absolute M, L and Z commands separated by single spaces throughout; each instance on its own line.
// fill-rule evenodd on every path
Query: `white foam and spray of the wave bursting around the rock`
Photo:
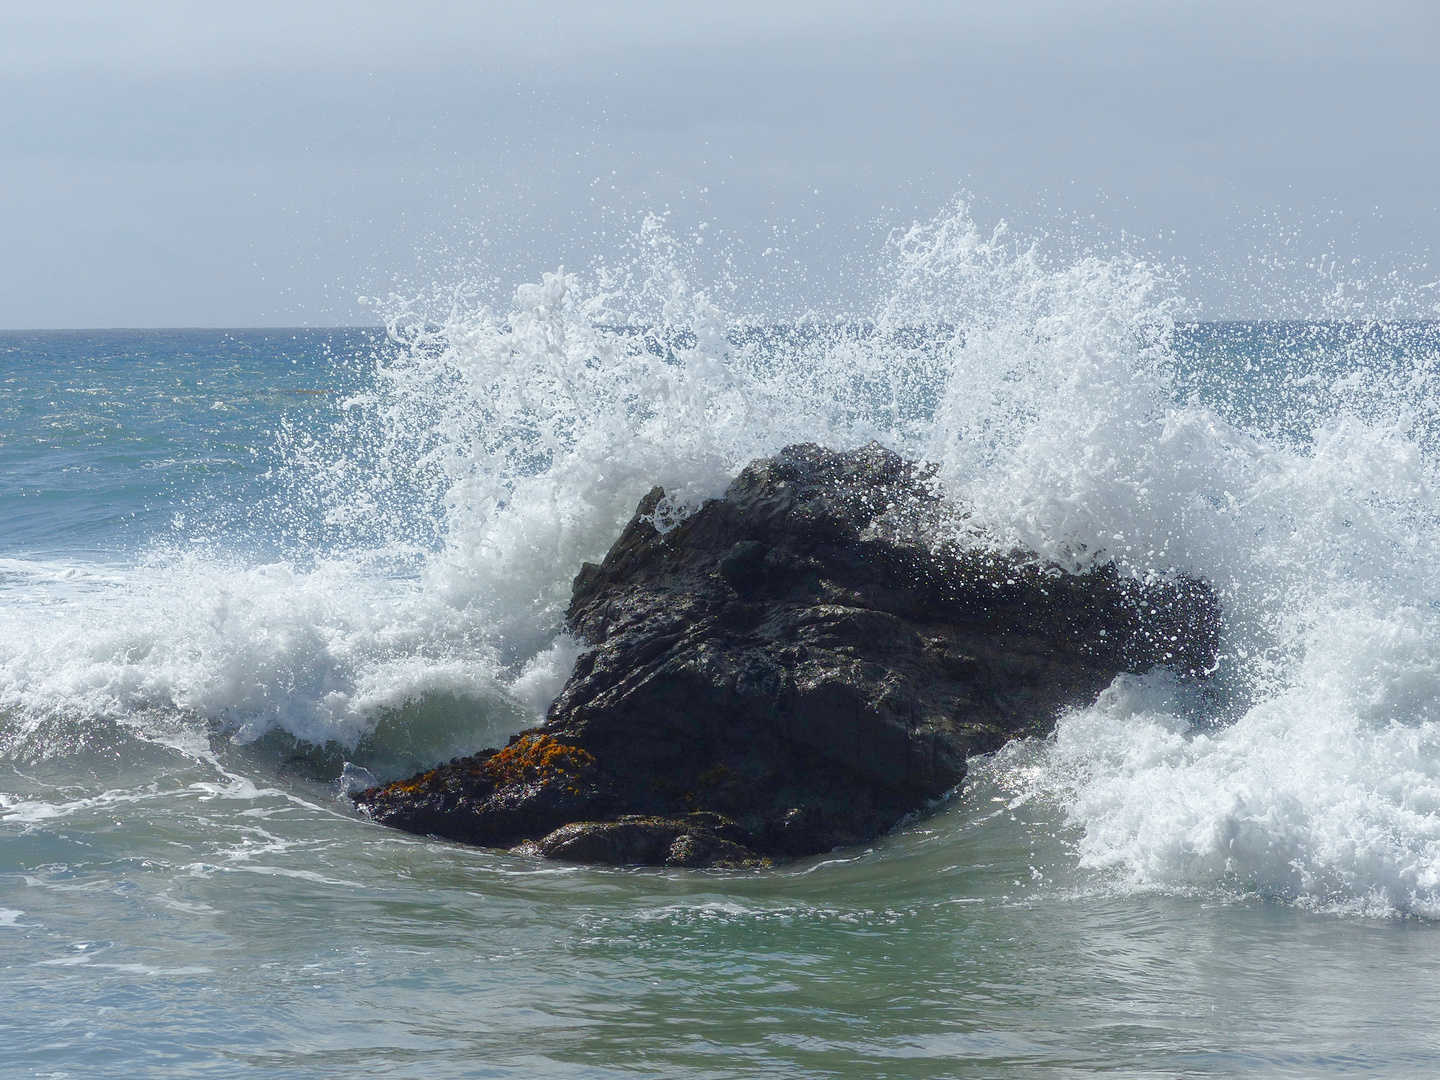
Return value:
M 1084 865 L 1440 916 L 1433 338 L 1282 372 L 1280 438 L 1185 390 L 1175 288 L 1140 261 L 1048 259 L 958 210 L 899 239 L 868 320 L 770 333 L 658 225 L 639 249 L 508 310 L 393 301 L 372 389 L 281 433 L 314 557 L 0 567 L 12 723 L 168 708 L 353 746 L 449 694 L 517 727 L 573 662 L 575 572 L 651 485 L 683 514 L 785 444 L 880 439 L 995 534 L 1220 593 L 1207 697 L 1125 677 L 1025 766 Z

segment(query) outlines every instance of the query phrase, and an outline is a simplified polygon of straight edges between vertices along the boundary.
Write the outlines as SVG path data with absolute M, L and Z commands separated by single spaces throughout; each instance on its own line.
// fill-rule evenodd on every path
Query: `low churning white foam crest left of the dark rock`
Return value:
M 482 628 L 464 612 L 347 562 L 45 564 L 24 580 L 60 596 L 12 606 L 0 708 L 20 716 L 179 711 L 242 739 L 279 726 L 354 744 L 422 694 L 503 693 Z

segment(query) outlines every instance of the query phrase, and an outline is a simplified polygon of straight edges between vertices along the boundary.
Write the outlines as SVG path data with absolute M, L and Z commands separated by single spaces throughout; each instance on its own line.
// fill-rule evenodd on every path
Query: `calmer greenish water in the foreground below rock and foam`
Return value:
M 1413 1077 L 1440 1060 L 1433 924 L 1081 878 L 1058 812 L 1017 795 L 1032 749 L 874 848 L 704 873 L 426 842 L 253 749 L 85 740 L 0 779 L 27 822 L 0 847 L 3 1076 Z

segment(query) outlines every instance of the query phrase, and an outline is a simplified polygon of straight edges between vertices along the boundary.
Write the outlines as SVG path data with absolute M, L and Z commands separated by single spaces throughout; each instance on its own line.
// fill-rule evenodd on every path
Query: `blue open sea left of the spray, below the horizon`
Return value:
M 203 516 L 239 539 L 287 418 L 341 395 L 383 330 L 7 333 L 0 550 L 137 554 Z M 265 528 L 252 537 L 272 543 Z M 271 530 L 272 531 L 272 530 Z

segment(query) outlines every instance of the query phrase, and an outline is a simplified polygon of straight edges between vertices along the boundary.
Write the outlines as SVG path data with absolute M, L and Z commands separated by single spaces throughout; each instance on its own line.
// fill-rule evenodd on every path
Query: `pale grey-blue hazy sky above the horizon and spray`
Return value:
M 1437 52 L 1434 0 L 0 0 L 0 327 L 367 324 L 648 213 L 736 304 L 855 312 L 956 197 L 1204 317 L 1316 265 L 1424 301 Z

